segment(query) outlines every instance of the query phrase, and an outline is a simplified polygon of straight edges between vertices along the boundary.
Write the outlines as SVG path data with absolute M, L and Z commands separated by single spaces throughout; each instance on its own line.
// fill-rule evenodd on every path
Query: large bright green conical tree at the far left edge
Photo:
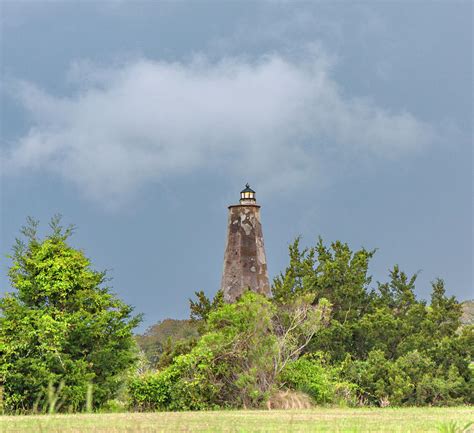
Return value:
M 0 381 L 9 411 L 29 411 L 61 389 L 58 410 L 80 410 L 92 384 L 94 406 L 114 397 L 136 361 L 132 307 L 110 292 L 105 272 L 68 245 L 72 226 L 52 218 L 37 234 L 29 218 L 11 256 L 13 292 L 0 300 Z M 61 384 L 61 386 L 59 386 Z

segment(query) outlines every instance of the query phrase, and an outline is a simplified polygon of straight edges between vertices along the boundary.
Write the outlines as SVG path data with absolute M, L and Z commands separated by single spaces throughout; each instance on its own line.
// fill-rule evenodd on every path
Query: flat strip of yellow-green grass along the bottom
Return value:
M 474 421 L 474 410 L 467 406 L 39 415 L 0 417 L 0 433 L 438 433 L 443 427 L 464 426 L 470 421 Z

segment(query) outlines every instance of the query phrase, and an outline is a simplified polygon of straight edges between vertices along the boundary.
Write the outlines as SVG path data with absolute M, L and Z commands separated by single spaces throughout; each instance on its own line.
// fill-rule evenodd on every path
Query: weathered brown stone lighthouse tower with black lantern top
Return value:
M 221 288 L 226 302 L 234 302 L 247 289 L 270 295 L 260 206 L 249 184 L 240 193 L 240 204 L 229 206 Z

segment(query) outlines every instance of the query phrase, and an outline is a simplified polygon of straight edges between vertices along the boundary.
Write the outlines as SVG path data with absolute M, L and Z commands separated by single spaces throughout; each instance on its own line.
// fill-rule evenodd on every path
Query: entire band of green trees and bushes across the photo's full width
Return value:
M 30 220 L 12 254 L 14 291 L 0 300 L 0 399 L 8 413 L 200 410 L 313 404 L 472 403 L 472 325 L 433 281 L 397 266 L 373 283 L 374 251 L 296 240 L 273 297 L 245 293 L 225 304 L 197 292 L 189 321 L 164 321 L 139 337 L 140 317 L 106 286 L 72 228 Z M 138 341 L 139 345 L 136 344 Z M 141 349 L 140 349 L 141 346 Z M 286 396 L 286 397 L 285 397 Z M 296 397 L 295 397 L 296 396 Z

